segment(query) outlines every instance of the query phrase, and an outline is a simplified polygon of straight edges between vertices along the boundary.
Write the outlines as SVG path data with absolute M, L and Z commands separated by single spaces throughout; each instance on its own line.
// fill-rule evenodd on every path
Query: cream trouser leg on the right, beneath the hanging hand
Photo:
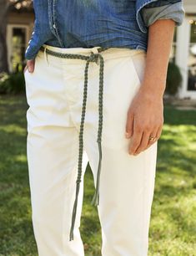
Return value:
M 120 50 L 119 50 L 120 51 Z M 122 52 L 123 53 L 123 52 Z M 147 256 L 148 228 L 153 202 L 157 142 L 138 156 L 128 154 L 124 137 L 128 106 L 137 93 L 145 54 L 108 58 L 103 89 L 102 169 L 98 216 L 102 227 L 103 256 Z M 123 54 L 122 54 L 123 55 Z M 105 52 L 107 57 L 107 52 Z M 134 65 L 137 63 L 137 69 Z M 137 60 L 137 61 L 136 61 Z M 98 74 L 88 88 L 85 151 L 93 170 L 98 169 Z

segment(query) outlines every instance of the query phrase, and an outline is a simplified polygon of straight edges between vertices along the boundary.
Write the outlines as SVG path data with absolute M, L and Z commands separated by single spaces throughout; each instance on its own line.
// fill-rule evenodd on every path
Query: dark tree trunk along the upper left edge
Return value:
M 29 8 L 31 0 L 0 0 L 0 73 L 8 72 L 7 23 L 10 8 Z

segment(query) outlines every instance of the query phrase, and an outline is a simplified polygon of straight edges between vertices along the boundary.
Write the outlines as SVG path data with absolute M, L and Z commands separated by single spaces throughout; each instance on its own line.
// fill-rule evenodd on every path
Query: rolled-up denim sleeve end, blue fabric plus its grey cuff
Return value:
M 185 11 L 182 0 L 137 0 L 136 19 L 143 33 L 158 19 L 173 19 L 175 26 L 183 23 Z

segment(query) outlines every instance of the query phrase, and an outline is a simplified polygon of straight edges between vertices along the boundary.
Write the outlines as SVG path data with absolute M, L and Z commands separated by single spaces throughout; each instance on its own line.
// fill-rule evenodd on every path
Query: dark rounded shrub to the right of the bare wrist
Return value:
M 168 73 L 166 79 L 166 89 L 165 91 L 169 95 L 176 95 L 179 87 L 182 85 L 182 74 L 180 73 L 180 69 L 178 65 L 169 62 L 168 63 Z

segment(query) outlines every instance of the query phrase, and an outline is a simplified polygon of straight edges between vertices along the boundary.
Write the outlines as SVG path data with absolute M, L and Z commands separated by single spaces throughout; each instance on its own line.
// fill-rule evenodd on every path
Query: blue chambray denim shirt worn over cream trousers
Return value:
M 157 19 L 183 23 L 183 0 L 34 0 L 35 22 L 25 58 L 43 44 L 59 48 L 148 47 L 148 26 Z

